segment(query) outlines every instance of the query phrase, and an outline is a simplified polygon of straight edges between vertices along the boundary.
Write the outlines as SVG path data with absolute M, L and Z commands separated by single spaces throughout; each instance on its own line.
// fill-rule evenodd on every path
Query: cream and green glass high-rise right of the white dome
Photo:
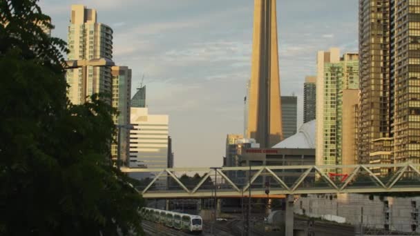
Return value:
M 359 55 L 346 53 L 339 56 L 338 48 L 330 52 L 318 52 L 316 80 L 316 164 L 343 164 L 343 106 L 352 109 L 358 103 L 358 96 L 347 95 L 347 90 L 359 92 Z M 347 100 L 343 103 L 343 96 Z M 347 108 L 348 106 L 348 108 Z M 347 110 L 345 112 L 347 112 Z M 354 132 L 354 124 L 345 124 Z M 354 135 L 351 135 L 354 137 Z M 348 139 L 346 139 L 347 141 Z M 351 141 L 354 142 L 353 139 Z M 347 150 L 347 149 L 346 149 Z M 354 159 L 354 157 L 345 157 Z M 346 160 L 347 161 L 347 160 Z

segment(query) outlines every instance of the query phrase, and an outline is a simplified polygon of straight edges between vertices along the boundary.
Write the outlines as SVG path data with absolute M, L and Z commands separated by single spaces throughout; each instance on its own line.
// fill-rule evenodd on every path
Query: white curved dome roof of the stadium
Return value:
M 315 148 L 315 120 L 300 126 L 296 135 L 288 137 L 273 148 Z

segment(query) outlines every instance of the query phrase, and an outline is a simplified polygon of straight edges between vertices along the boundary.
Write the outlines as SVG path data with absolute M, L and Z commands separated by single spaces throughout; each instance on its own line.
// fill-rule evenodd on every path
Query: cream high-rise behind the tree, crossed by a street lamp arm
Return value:
M 71 6 L 70 26 L 68 26 L 67 59 L 113 59 L 113 30 L 97 23 L 97 12 L 83 5 Z M 86 75 L 84 75 L 86 73 Z M 86 79 L 85 79 L 86 78 Z M 111 68 L 87 66 L 67 70 L 68 99 L 73 104 L 83 104 L 86 96 L 95 93 L 111 95 Z M 111 101 L 109 101 L 111 103 Z

